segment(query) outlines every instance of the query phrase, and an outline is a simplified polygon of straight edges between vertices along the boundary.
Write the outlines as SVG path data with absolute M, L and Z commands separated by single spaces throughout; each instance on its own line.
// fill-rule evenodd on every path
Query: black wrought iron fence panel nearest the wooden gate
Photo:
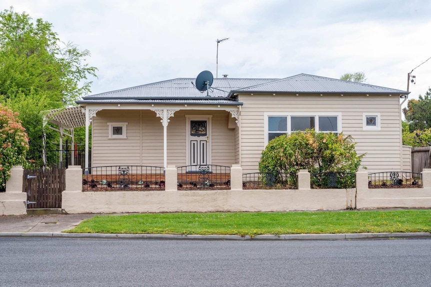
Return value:
M 164 168 L 155 166 L 99 166 L 82 169 L 83 191 L 164 190 Z

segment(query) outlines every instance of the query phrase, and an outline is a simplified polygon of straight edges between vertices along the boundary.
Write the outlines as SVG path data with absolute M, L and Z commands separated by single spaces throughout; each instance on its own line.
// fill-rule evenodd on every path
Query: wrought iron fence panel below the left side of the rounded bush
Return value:
M 297 189 L 298 176 L 285 173 L 244 173 L 242 189 Z

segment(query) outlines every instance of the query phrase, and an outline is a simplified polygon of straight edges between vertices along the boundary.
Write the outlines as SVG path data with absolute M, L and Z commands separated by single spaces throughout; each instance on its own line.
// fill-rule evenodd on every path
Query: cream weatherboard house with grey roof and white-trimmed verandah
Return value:
M 406 91 L 308 74 L 216 78 L 204 92 L 194 80 L 176 78 L 77 101 L 85 109 L 85 125 L 91 124 L 92 166 L 239 164 L 244 172 L 256 172 L 270 139 L 314 128 L 351 135 L 357 153 L 366 154 L 362 165 L 369 172 L 408 169 L 400 109 Z

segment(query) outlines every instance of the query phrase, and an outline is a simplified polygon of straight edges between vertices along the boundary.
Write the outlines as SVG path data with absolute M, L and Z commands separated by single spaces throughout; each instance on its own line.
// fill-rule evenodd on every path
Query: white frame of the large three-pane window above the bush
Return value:
M 341 129 L 341 113 L 340 112 L 315 112 L 315 113 L 306 113 L 306 112 L 264 112 L 263 113 L 263 124 L 264 124 L 264 132 L 265 132 L 265 140 L 264 146 L 268 144 L 268 117 L 287 117 L 287 134 L 291 133 L 291 116 L 303 116 L 303 117 L 314 117 L 315 130 L 319 131 L 319 116 L 332 116 L 336 117 L 336 126 L 337 130 L 334 131 L 336 133 L 342 132 Z M 327 131 L 326 131 L 327 132 Z

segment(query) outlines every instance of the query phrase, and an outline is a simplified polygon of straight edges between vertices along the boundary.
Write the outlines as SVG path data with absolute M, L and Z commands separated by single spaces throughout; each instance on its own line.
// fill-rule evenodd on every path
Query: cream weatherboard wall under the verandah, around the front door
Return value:
M 228 128 L 230 113 L 179 110 L 167 125 L 167 164 L 186 165 L 186 115 L 211 116 L 212 164 L 235 163 L 235 128 Z M 127 123 L 125 139 L 109 139 L 108 123 Z M 151 110 L 98 111 L 92 120 L 92 166 L 163 166 L 163 126 Z

